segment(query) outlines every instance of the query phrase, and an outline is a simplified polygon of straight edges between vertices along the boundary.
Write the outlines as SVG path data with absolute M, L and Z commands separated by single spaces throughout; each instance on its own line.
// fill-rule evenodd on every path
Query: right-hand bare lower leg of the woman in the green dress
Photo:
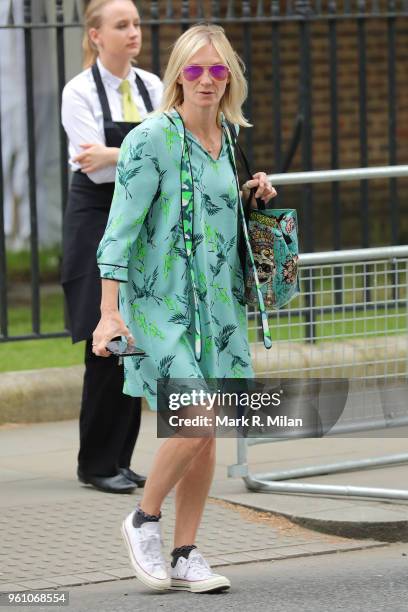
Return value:
M 215 439 L 209 438 L 176 486 L 175 548 L 194 544 L 214 476 L 214 467 Z

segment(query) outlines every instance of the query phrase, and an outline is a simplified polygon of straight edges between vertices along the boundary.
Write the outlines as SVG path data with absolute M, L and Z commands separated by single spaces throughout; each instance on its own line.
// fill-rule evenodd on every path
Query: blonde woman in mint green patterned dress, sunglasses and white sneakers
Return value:
M 122 145 L 115 196 L 99 246 L 101 320 L 94 353 L 125 336 L 146 356 L 125 358 L 125 393 L 157 408 L 159 378 L 252 377 L 238 253 L 239 186 L 226 122 L 248 126 L 246 82 L 222 28 L 198 25 L 176 42 L 159 113 Z M 249 187 L 276 192 L 263 172 Z M 120 286 L 120 312 L 117 308 Z M 195 541 L 215 464 L 215 439 L 170 438 L 140 505 L 123 523 L 136 576 L 154 589 L 225 590 Z M 161 506 L 175 488 L 170 572 Z

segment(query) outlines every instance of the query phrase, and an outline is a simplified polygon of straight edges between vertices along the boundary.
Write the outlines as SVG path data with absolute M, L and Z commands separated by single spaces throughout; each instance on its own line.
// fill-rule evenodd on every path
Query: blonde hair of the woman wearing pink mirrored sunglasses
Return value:
M 251 124 L 242 113 L 242 105 L 248 93 L 244 64 L 225 36 L 224 29 L 212 24 L 195 25 L 176 40 L 163 78 L 164 92 L 159 112 L 168 112 L 182 104 L 183 88 L 177 82 L 180 72 L 190 57 L 209 43 L 214 46 L 221 60 L 230 69 L 229 83 L 220 102 L 218 123 L 220 124 L 222 112 L 228 121 L 250 127 Z

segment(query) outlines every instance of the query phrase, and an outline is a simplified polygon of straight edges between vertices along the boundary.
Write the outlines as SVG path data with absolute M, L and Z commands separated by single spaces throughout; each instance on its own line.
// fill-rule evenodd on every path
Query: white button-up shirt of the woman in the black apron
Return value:
M 112 121 L 123 121 L 122 94 L 119 91 L 123 79 L 106 70 L 99 58 L 97 64 L 108 98 Z M 130 82 L 133 101 L 143 119 L 147 115 L 147 109 L 136 86 L 135 72 L 143 80 L 154 109 L 161 102 L 163 84 L 159 77 L 151 72 L 141 68 L 132 67 L 130 69 L 126 78 Z M 81 166 L 76 164 L 73 158 L 83 153 L 84 149 L 80 147 L 81 144 L 106 144 L 102 107 L 91 68 L 87 68 L 65 85 L 62 92 L 61 115 L 69 140 L 69 163 L 73 171 L 79 170 Z M 94 183 L 111 183 L 115 180 L 115 173 L 116 165 L 107 166 L 90 172 L 88 177 Z

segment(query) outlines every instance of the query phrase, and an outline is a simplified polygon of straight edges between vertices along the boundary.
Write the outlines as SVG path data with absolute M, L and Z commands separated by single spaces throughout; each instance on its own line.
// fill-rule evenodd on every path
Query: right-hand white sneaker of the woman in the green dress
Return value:
M 192 593 L 225 591 L 231 586 L 230 581 L 221 574 L 214 574 L 207 561 L 193 549 L 188 559 L 179 557 L 175 567 L 170 570 L 171 588 Z

